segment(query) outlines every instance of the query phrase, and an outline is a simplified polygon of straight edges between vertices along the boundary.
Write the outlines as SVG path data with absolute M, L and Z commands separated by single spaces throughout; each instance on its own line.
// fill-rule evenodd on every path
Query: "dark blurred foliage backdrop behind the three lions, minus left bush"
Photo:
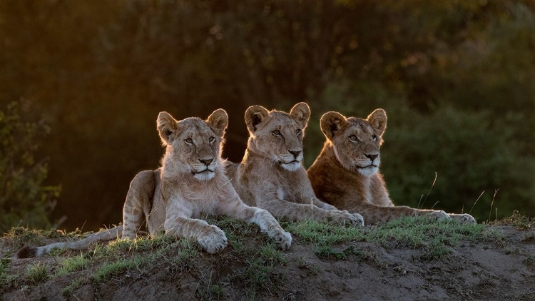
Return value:
M 39 168 L 49 172 L 31 189 L 56 189 L 39 200 L 50 204 L 61 184 L 51 215 L 22 221 L 4 218 L 25 207 L 1 191 L 4 229 L 47 226 L 43 216 L 68 230 L 121 221 L 131 178 L 163 153 L 159 111 L 224 108 L 223 156 L 240 160 L 245 109 L 299 101 L 312 108 L 307 166 L 322 147 L 322 113 L 382 107 L 382 171 L 398 205 L 421 203 L 437 173 L 425 208 L 474 206 L 479 221 L 495 208 L 535 212 L 534 1 L 6 0 L 0 49 L 0 110 L 16 101 L 21 123 L 51 129 L 31 136 L 41 146 L 31 162 L 47 159 Z

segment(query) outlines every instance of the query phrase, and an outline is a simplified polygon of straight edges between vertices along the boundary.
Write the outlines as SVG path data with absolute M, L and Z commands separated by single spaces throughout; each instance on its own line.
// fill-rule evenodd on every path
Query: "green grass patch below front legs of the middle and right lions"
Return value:
M 355 228 L 344 225 L 330 225 L 307 220 L 288 223 L 288 231 L 302 243 L 315 245 L 318 257 L 345 260 L 349 255 L 359 255 L 355 250 L 337 250 L 335 245 L 357 241 L 375 243 L 384 248 L 404 245 L 421 250 L 420 260 L 437 260 L 449 254 L 449 247 L 459 240 L 499 240 L 499 231 L 488 231 L 480 224 L 460 224 L 454 220 L 437 222 L 426 217 L 399 218 L 382 225 Z M 357 256 L 358 257 L 358 256 Z M 369 260 L 370 258 L 368 258 Z M 376 262 L 376 260 L 372 260 Z

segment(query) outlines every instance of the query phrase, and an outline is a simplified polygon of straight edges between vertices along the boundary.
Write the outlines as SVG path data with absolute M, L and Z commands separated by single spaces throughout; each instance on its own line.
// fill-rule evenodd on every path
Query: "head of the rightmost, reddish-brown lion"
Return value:
M 382 108 L 373 111 L 366 119 L 327 112 L 323 114 L 320 126 L 344 168 L 365 176 L 377 173 L 381 163 L 382 134 L 387 128 L 387 113 Z

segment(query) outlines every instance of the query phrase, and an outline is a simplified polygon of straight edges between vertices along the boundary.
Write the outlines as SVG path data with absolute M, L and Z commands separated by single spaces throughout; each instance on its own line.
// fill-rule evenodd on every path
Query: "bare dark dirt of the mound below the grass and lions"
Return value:
M 318 257 L 314 245 L 295 238 L 292 248 L 282 252 L 284 262 L 275 264 L 266 285 L 254 295 L 246 281 L 234 277 L 244 260 L 229 245 L 218 255 L 198 252 L 188 265 L 156 262 L 100 283 L 92 280 L 91 268 L 70 272 L 39 285 L 11 287 L 1 300 L 535 300 L 534 230 L 487 227 L 503 233 L 504 239 L 461 241 L 438 260 L 422 260 L 421 250 L 404 245 L 384 248 L 366 242 L 335 249 L 353 247 L 371 257 Z M 9 245 L 0 245 L 0 256 L 8 252 L 13 252 Z M 9 272 L 55 260 L 12 260 Z M 65 294 L 64 288 L 78 278 L 86 280 Z M 215 283 L 216 289 L 210 288 Z

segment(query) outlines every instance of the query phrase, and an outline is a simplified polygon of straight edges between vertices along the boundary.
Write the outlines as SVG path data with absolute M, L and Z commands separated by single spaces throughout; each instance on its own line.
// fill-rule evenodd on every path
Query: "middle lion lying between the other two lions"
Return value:
M 301 163 L 309 117 L 306 103 L 297 103 L 290 113 L 250 106 L 245 111 L 247 150 L 241 163 L 225 163 L 228 178 L 246 204 L 277 218 L 364 225 L 362 216 L 316 198 Z

